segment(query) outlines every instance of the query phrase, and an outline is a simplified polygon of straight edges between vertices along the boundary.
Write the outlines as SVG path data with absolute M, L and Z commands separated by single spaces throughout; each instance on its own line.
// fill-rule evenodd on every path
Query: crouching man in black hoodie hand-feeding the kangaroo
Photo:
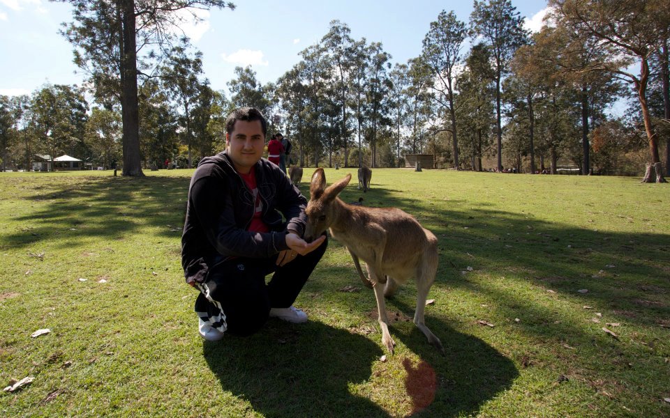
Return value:
M 260 111 L 233 111 L 225 130 L 227 148 L 193 173 L 181 235 L 181 265 L 200 291 L 195 314 L 207 341 L 252 334 L 268 317 L 304 323 L 307 314 L 293 303 L 327 247 L 325 235 L 301 238 L 307 199 L 262 158 Z

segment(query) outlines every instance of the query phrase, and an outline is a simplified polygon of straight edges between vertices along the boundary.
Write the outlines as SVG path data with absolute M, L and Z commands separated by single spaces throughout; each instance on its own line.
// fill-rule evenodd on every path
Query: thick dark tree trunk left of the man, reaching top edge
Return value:
M 135 1 L 121 2 L 121 120 L 123 121 L 124 176 L 144 176 L 140 164 L 140 117 L 137 100 L 137 44 Z

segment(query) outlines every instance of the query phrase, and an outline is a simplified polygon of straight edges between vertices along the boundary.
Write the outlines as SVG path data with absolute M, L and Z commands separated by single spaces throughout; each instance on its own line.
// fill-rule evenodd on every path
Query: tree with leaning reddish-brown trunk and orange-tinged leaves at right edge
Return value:
M 597 47 L 602 49 L 604 56 L 610 58 L 605 64 L 591 66 L 590 70 L 613 72 L 634 85 L 650 154 L 650 163 L 642 181 L 664 183 L 666 180 L 658 152 L 657 132 L 653 127 L 646 94 L 650 77 L 649 61 L 667 41 L 669 2 L 550 0 L 549 4 L 556 9 L 560 24 L 568 26 L 584 38 L 596 38 Z M 639 61 L 639 75 L 625 70 L 634 61 Z M 655 170 L 655 178 L 652 170 Z

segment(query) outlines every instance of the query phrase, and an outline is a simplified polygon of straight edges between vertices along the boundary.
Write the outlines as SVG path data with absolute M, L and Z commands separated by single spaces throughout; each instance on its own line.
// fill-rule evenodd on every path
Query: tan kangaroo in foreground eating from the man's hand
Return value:
M 391 353 L 395 342 L 389 334 L 384 297 L 393 295 L 400 284 L 415 277 L 417 310 L 414 323 L 429 343 L 444 354 L 440 339 L 424 323 L 426 296 L 438 268 L 438 239 L 400 209 L 344 203 L 337 195 L 350 180 L 351 174 L 348 174 L 326 187 L 323 169 L 314 172 L 309 188 L 311 199 L 306 209 L 305 240 L 314 240 L 329 229 L 332 237 L 347 247 L 364 284 L 375 291 L 382 343 Z M 364 277 L 359 258 L 365 261 L 368 279 Z

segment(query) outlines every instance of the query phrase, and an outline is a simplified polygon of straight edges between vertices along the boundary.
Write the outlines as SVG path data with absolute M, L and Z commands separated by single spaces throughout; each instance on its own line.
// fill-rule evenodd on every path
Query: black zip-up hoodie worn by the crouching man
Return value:
M 186 283 L 204 281 L 209 268 L 230 258 L 267 258 L 288 249 L 288 229 L 304 235 L 307 199 L 265 158 L 253 170 L 263 204 L 262 220 L 270 228 L 267 233 L 246 230 L 253 218 L 253 195 L 235 171 L 228 151 L 205 157 L 198 164 L 188 187 L 181 235 Z

